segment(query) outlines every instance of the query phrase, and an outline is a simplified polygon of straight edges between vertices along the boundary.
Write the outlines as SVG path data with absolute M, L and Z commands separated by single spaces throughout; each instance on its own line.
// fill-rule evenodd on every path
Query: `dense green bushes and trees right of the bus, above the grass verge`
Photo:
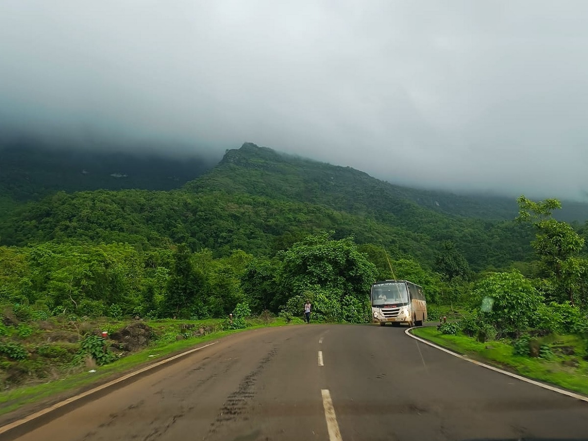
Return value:
M 552 217 L 553 209 L 561 206 L 556 199 L 533 202 L 521 196 L 519 206 L 517 220 L 530 223 L 536 233 L 532 278 L 516 269 L 486 273 L 476 281 L 473 309 L 458 323 L 442 323 L 438 330 L 456 338 L 462 332 L 479 342 L 506 340 L 512 343 L 515 357 L 559 360 L 580 369 L 583 360 L 588 360 L 584 239 L 572 226 Z M 569 338 L 575 346 L 564 345 Z

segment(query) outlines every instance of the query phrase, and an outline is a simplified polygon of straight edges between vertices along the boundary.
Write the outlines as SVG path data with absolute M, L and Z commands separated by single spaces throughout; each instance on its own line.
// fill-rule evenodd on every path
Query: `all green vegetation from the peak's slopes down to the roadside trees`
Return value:
M 531 316 L 510 310 L 505 325 L 482 305 L 495 299 L 490 310 L 510 308 L 511 295 L 527 296 L 529 313 L 572 308 L 573 320 L 584 323 L 585 229 L 553 217 L 559 202 L 523 198 L 519 219 L 493 220 L 464 216 L 480 209 L 468 205 L 471 199 L 448 196 L 460 207 L 450 213 L 443 200 L 431 206 L 430 197 L 246 143 L 169 191 L 11 199 L 11 211 L 0 216 L 4 382 L 44 375 L 34 369 L 40 343 L 28 339 L 44 322 L 75 328 L 103 316 L 120 322 L 233 313 L 233 322 L 222 322 L 230 328 L 245 326 L 252 314 L 296 321 L 309 299 L 313 320 L 366 323 L 370 283 L 386 278 L 422 285 L 431 318 L 439 308 L 471 310 L 456 332 L 478 338 L 516 338 L 535 326 Z M 95 353 L 101 360 L 114 359 L 95 332 L 78 333 L 81 342 L 102 348 Z

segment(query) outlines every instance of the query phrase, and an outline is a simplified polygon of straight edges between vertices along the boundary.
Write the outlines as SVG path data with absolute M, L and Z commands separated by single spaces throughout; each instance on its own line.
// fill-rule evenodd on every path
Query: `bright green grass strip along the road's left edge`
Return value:
M 218 325 L 223 320 L 211 319 L 211 320 L 155 320 L 153 322 L 147 322 L 152 328 L 165 328 L 165 326 L 173 323 L 195 323 L 202 326 L 213 326 Z M 157 343 L 153 346 L 149 346 L 146 349 L 132 353 L 124 358 L 116 360 L 115 362 L 93 368 L 96 372 L 89 373 L 89 368 L 83 369 L 83 372 L 77 372 L 72 375 L 62 377 L 58 380 L 52 380 L 50 382 L 36 384 L 36 385 L 25 385 L 16 387 L 15 389 L 8 390 L 0 393 L 0 415 L 13 412 L 14 410 L 24 405 L 29 405 L 35 402 L 39 402 L 44 399 L 48 399 L 52 396 L 60 395 L 64 392 L 89 389 L 91 386 L 95 386 L 106 382 L 113 377 L 121 376 L 123 373 L 129 372 L 133 369 L 138 369 L 142 365 L 148 365 L 156 360 L 161 360 L 166 356 L 172 355 L 173 353 L 182 352 L 192 348 L 193 346 L 200 345 L 211 340 L 216 340 L 225 337 L 230 334 L 243 332 L 250 329 L 267 328 L 270 326 L 284 326 L 286 325 L 285 320 L 282 318 L 276 318 L 270 323 L 263 323 L 261 320 L 252 320 L 252 323 L 248 328 L 225 330 L 221 332 L 213 332 L 208 335 L 201 337 L 193 337 L 186 340 L 179 340 L 173 343 Z

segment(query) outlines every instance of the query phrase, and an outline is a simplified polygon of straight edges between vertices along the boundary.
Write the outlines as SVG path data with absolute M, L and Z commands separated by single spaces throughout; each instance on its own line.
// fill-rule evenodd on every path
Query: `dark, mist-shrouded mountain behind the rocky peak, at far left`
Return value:
M 0 196 L 23 202 L 58 191 L 181 187 L 216 161 L 199 158 L 41 148 L 27 143 L 0 147 Z

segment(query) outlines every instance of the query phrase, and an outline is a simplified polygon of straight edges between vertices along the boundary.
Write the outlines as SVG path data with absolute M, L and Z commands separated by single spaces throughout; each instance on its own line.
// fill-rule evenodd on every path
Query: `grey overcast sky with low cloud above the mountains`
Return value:
M 588 191 L 588 1 L 0 0 L 0 139 Z

